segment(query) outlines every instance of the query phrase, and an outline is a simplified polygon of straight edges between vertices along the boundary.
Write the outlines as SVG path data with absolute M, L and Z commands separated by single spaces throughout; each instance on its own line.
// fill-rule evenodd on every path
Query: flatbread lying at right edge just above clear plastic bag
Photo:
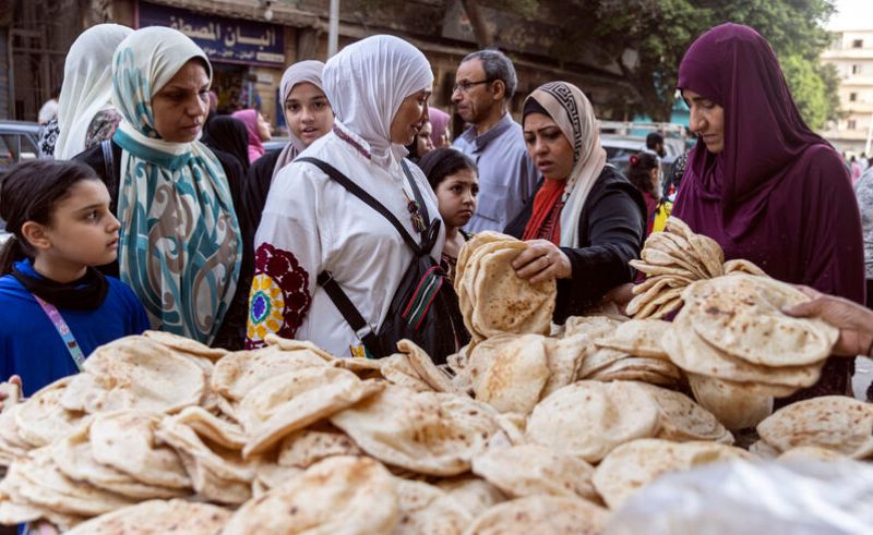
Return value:
M 761 422 L 757 433 L 779 451 L 816 446 L 863 459 L 873 451 L 873 405 L 845 396 L 798 401 Z

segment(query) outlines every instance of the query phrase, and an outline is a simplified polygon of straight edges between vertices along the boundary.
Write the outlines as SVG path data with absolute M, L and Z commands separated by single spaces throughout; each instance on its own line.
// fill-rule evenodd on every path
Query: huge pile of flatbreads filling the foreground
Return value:
M 873 454 L 866 403 L 705 408 L 817 379 L 834 332 L 781 314 L 802 296 L 791 287 L 707 278 L 683 289 L 674 324 L 590 316 L 558 328 L 553 283 L 513 279 L 525 245 L 486 238 L 458 262 L 474 341 L 446 366 L 409 341 L 369 361 L 276 337 L 228 353 L 146 332 L 27 400 L 12 396 L 0 522 L 75 534 L 596 534 L 666 472 Z M 509 295 L 501 306 L 523 319 L 482 309 L 489 295 Z M 702 381 L 717 394 L 702 396 Z M 763 420 L 752 452 L 730 431 L 750 420 Z

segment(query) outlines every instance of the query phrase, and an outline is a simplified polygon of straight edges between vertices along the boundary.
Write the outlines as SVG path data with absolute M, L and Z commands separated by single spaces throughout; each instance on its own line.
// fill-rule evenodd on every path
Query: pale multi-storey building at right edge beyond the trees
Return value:
M 847 155 L 871 156 L 873 142 L 873 28 L 836 32 L 822 62 L 839 74 L 844 117 L 822 132 Z

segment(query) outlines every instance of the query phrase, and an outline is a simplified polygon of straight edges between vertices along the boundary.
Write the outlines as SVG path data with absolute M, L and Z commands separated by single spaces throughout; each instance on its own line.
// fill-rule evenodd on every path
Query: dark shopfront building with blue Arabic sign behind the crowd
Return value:
M 8 1 L 12 9 L 0 16 L 0 39 L 13 62 L 0 63 L 8 74 L 0 75 L 0 118 L 35 120 L 41 102 L 62 80 L 64 51 L 83 29 L 100 22 L 134 28 L 165 25 L 189 35 L 214 65 L 219 110 L 256 107 L 279 127 L 277 97 L 284 69 L 296 61 L 327 59 L 330 0 Z M 596 44 L 579 44 L 571 59 L 554 57 L 559 34 L 548 22 L 549 13 L 521 20 L 489 8 L 479 11 L 494 45 L 507 52 L 518 71 L 514 112 L 521 112 L 526 95 L 548 81 L 578 85 L 595 107 L 617 86 L 627 87 L 621 69 L 605 63 Z M 431 105 L 452 112 L 455 70 L 479 48 L 473 26 L 462 0 L 343 0 L 339 48 L 380 33 L 407 39 L 433 68 Z M 31 40 L 24 42 L 24 37 Z M 461 125 L 456 118 L 455 132 Z

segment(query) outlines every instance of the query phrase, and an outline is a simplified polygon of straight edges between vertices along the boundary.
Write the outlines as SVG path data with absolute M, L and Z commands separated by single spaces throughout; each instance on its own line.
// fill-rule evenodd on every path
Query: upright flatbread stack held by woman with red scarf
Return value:
M 521 240 L 486 231 L 461 250 L 455 291 L 474 345 L 504 332 L 549 333 L 555 282 L 530 284 L 515 275 L 512 262 L 526 247 Z

